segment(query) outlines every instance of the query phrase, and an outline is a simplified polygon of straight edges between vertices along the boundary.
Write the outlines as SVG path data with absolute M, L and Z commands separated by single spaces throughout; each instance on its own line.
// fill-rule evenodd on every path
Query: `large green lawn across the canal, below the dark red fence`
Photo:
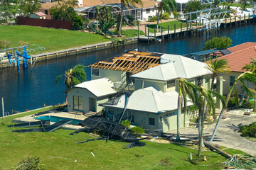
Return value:
M 0 33 L 0 40 L 9 40 L 11 47 L 16 47 L 19 41 L 23 41 L 45 47 L 44 52 L 110 41 L 102 35 L 92 33 L 33 26 L 0 26 Z

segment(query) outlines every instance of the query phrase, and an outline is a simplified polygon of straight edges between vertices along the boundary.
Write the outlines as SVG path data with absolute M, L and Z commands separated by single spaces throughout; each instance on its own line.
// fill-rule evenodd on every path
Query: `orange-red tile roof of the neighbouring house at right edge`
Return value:
M 240 47 L 246 47 L 249 43 L 251 43 L 250 47 L 244 48 L 243 50 L 239 50 L 237 52 L 233 52 L 230 55 L 224 55 L 223 57 L 219 57 L 219 59 L 228 60 L 228 65 L 230 66 L 230 70 L 232 72 L 245 72 L 245 70 L 242 70 L 242 67 L 244 67 L 245 64 L 250 64 L 252 61 L 251 58 L 256 60 L 256 42 L 246 42 L 240 45 Z M 254 45 L 252 46 L 252 44 Z M 235 46 L 233 49 L 238 50 L 238 46 L 239 45 Z

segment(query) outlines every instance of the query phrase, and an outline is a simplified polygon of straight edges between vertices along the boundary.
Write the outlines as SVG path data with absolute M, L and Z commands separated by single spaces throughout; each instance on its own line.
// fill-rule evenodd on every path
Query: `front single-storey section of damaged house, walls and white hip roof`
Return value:
M 117 115 L 124 110 L 124 95 L 118 98 L 118 102 L 103 103 L 107 116 Z M 114 102 L 113 102 L 114 103 Z M 188 102 L 187 106 L 193 103 Z M 131 125 L 137 125 L 144 129 L 167 132 L 177 128 L 178 93 L 170 91 L 163 93 L 154 87 L 134 91 L 128 98 L 126 111 L 132 113 Z M 189 114 L 181 114 L 181 127 L 189 125 Z

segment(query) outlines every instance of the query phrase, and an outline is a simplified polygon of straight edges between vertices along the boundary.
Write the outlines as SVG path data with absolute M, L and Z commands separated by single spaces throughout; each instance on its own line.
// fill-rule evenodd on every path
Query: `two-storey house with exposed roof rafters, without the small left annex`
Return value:
M 130 51 L 114 57 L 112 62 L 97 62 L 88 67 L 91 67 L 92 79 L 107 77 L 114 84 L 122 85 L 122 92 L 129 91 L 126 111 L 133 115 L 132 125 L 167 132 L 176 129 L 178 79 L 210 88 L 211 72 L 205 66 L 181 55 Z M 217 86 L 220 94 L 221 83 L 220 79 Z M 133 88 L 125 88 L 131 84 Z M 124 103 L 125 98 L 121 96 L 100 106 L 105 107 L 107 116 L 112 116 L 124 111 Z M 217 103 L 220 108 L 220 102 Z M 189 114 L 183 113 L 181 126 L 188 123 Z

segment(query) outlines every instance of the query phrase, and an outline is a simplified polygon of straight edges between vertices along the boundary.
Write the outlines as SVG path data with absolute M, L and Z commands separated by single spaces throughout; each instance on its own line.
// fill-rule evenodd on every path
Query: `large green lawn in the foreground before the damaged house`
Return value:
M 49 109 L 45 108 L 44 110 Z M 35 112 L 33 112 L 35 113 Z M 32 113 L 27 113 L 32 114 Z M 24 115 L 24 114 L 23 114 Z M 222 169 L 225 158 L 215 152 L 206 151 L 207 162 L 188 162 L 190 153 L 197 154 L 196 149 L 175 144 L 146 142 L 144 147 L 124 149 L 127 142 L 104 140 L 77 144 L 75 142 L 94 137 L 85 132 L 69 135 L 71 130 L 55 132 L 11 132 L 7 128 L 14 115 L 0 120 L 0 169 L 14 169 L 22 158 L 39 156 L 47 169 Z M 235 149 L 226 149 L 230 154 L 242 153 Z M 95 157 L 92 156 L 92 153 Z M 198 158 L 193 157 L 194 160 Z M 168 166 L 161 164 L 165 160 Z M 201 160 L 201 159 L 200 159 Z

